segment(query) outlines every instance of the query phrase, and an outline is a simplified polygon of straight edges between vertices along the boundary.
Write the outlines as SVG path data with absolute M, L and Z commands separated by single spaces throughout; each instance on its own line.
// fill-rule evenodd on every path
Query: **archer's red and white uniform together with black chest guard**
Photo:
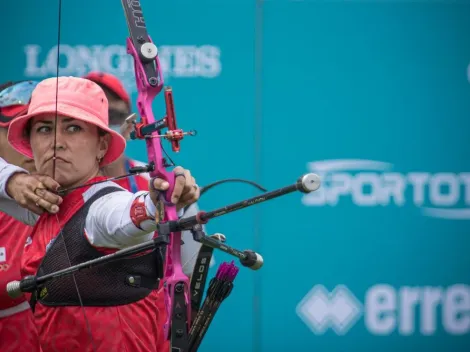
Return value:
M 38 219 L 5 194 L 4 183 L 17 169 L 13 165 L 5 167 L 0 159 L 1 208 L 22 222 L 35 224 L 21 260 L 23 277 L 69 266 L 60 229 L 72 265 L 153 237 L 154 221 L 143 220 L 137 227 L 131 218 L 136 202 L 145 206 L 148 215 L 155 213 L 145 192 L 134 195 L 111 181 L 79 188 L 63 197 L 57 217 L 45 213 Z M 104 179 L 96 177 L 90 183 Z M 77 300 L 72 276 L 46 284 L 46 290 L 33 296 L 43 351 L 164 351 L 158 318 L 162 297 L 156 286 L 161 272 L 156 269 L 156 260 L 154 251 L 128 260 L 127 265 L 103 265 L 76 273 L 84 308 Z M 154 287 L 127 285 L 129 276 L 140 277 Z

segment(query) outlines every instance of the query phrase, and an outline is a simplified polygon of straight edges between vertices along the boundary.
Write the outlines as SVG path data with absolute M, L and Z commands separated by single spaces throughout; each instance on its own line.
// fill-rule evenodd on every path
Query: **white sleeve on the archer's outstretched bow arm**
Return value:
M 106 183 L 95 185 L 97 189 L 103 188 Z M 113 183 L 113 187 L 119 187 Z M 151 219 L 142 221 L 140 228 L 131 218 L 131 207 L 135 199 L 139 198 L 145 204 L 147 216 Z M 131 193 L 123 191 L 109 193 L 97 199 L 90 207 L 85 222 L 85 233 L 88 241 L 95 247 L 122 249 L 145 241 L 150 241 L 157 228 L 155 219 L 155 205 L 148 192 Z M 181 213 L 181 212 L 180 212 Z

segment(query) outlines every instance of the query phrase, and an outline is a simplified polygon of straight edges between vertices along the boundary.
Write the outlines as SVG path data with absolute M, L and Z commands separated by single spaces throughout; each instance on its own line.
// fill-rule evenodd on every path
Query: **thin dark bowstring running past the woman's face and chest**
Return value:
M 58 15 L 58 29 L 57 29 L 57 67 L 56 67 L 56 91 L 55 91 L 55 121 L 54 121 L 54 150 L 53 150 L 53 157 L 52 157 L 52 179 L 55 180 L 55 165 L 56 165 L 56 150 L 57 150 L 57 122 L 59 120 L 59 113 L 58 113 L 58 100 L 59 100 L 59 59 L 60 59 L 60 29 L 61 29 L 61 19 L 62 19 L 62 0 L 59 0 L 59 15 Z M 59 225 L 59 236 L 64 243 L 64 250 L 65 256 L 67 257 L 67 261 L 69 262 L 69 266 L 72 266 L 72 261 L 70 260 L 69 252 L 67 249 L 67 245 L 65 243 L 65 237 L 62 231 L 62 226 L 60 225 L 59 216 L 55 214 L 55 218 L 57 224 Z M 93 335 L 91 332 L 90 322 L 86 315 L 85 307 L 83 305 L 82 296 L 80 295 L 80 290 L 78 289 L 78 283 L 75 278 L 75 273 L 72 273 L 73 283 L 75 285 L 75 290 L 77 291 L 78 301 L 80 302 L 80 307 L 83 313 L 83 317 L 85 319 L 85 325 L 88 331 L 88 337 L 90 338 L 91 346 L 93 351 L 96 352 L 95 341 L 93 340 Z

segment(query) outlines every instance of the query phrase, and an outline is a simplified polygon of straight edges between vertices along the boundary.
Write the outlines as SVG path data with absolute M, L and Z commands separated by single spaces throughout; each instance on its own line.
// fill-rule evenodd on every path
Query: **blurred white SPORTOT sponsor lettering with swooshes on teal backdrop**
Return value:
M 306 206 L 337 206 L 345 200 L 360 207 L 412 205 L 422 215 L 470 219 L 470 172 L 398 172 L 393 164 L 361 159 L 315 161 L 310 172 L 322 179 L 317 192 L 306 194 Z

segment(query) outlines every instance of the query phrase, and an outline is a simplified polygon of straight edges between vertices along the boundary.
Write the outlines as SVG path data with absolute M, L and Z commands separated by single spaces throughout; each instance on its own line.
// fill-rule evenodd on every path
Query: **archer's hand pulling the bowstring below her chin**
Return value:
M 6 191 L 20 206 L 41 215 L 59 211 L 62 197 L 55 192 L 60 185 L 49 176 L 15 173 L 7 181 Z

